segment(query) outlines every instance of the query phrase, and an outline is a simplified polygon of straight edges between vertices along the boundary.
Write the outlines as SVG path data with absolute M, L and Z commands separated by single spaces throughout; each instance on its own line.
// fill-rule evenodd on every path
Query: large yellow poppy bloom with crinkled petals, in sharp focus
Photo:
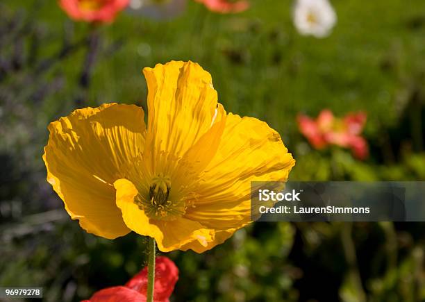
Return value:
M 196 63 L 143 72 L 147 126 L 142 108 L 117 103 L 53 121 L 47 181 L 89 233 L 201 253 L 250 222 L 251 181 L 286 181 L 295 161 L 265 122 L 226 114 Z

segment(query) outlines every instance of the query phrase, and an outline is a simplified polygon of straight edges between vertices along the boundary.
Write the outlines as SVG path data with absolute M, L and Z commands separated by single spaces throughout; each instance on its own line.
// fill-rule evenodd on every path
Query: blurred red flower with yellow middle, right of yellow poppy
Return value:
M 339 119 L 330 110 L 322 110 L 316 120 L 298 115 L 299 131 L 316 149 L 333 144 L 349 148 L 353 155 L 364 160 L 368 156 L 367 142 L 360 135 L 366 123 L 365 112 L 349 113 Z

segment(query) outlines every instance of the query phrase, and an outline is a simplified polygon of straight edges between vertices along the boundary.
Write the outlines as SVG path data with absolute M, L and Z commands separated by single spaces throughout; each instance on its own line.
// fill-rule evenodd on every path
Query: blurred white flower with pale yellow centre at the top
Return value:
M 328 0 L 297 0 L 294 24 L 301 35 L 326 37 L 337 20 L 335 10 Z

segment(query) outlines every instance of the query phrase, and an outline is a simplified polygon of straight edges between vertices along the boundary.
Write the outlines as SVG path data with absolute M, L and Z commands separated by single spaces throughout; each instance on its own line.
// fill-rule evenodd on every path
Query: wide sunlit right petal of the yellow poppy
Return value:
M 251 182 L 287 181 L 294 164 L 265 122 L 227 115 L 217 153 L 196 189 L 199 197 L 185 217 L 216 230 L 238 229 L 251 220 Z

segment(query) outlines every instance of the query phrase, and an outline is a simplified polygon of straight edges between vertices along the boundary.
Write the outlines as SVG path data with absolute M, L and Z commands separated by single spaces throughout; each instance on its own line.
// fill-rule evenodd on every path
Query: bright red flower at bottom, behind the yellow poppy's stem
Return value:
M 174 285 L 178 280 L 178 269 L 167 257 L 157 257 L 155 261 L 155 285 L 153 301 L 169 302 Z M 108 287 L 95 292 L 90 300 L 81 302 L 146 302 L 147 299 L 147 267 L 136 274 L 124 286 Z

